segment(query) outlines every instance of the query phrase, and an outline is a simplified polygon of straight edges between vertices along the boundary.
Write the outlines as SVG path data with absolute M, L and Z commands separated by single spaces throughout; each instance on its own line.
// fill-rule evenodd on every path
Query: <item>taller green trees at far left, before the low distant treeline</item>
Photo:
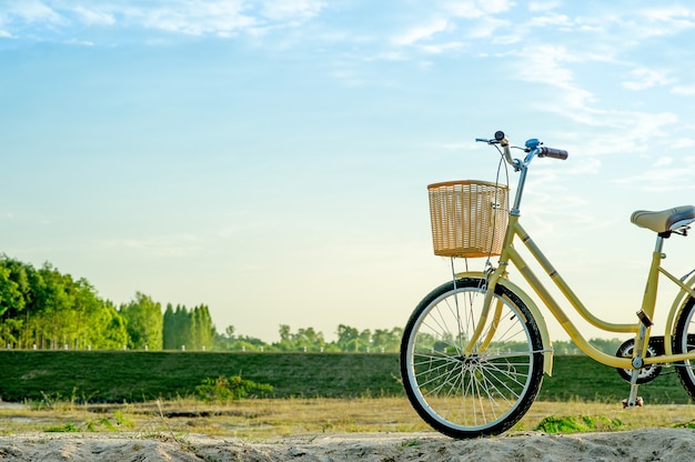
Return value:
M 0 255 L 0 344 L 20 349 L 212 348 L 216 331 L 208 307 L 189 310 L 137 292 L 115 307 L 85 279 L 50 263 L 33 265 Z

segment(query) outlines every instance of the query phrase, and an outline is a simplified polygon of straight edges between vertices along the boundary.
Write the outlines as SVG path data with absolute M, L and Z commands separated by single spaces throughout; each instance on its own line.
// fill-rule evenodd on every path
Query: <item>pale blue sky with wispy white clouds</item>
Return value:
M 0 250 L 268 341 L 390 329 L 449 277 L 426 185 L 493 180 L 502 129 L 570 151 L 522 220 L 632 317 L 629 214 L 695 203 L 693 43 L 685 1 L 0 0 Z

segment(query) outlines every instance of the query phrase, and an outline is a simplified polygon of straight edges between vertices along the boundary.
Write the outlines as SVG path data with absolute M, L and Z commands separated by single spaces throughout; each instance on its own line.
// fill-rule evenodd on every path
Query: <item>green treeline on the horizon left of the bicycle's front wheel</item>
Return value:
M 117 307 L 99 297 L 87 279 L 73 279 L 51 263 L 37 269 L 0 254 L 0 348 L 40 350 L 349 351 L 395 352 L 401 328 L 338 327 L 328 342 L 313 328 L 292 332 L 280 325 L 280 341 L 239 335 L 230 325 L 218 333 L 201 304 L 162 304 L 137 292 Z

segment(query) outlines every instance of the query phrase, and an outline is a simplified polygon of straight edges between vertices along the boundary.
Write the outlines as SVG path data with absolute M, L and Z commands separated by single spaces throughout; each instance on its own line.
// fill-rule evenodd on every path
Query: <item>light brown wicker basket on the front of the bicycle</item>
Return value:
M 507 223 L 508 188 L 486 181 L 449 181 L 427 187 L 434 254 L 498 255 Z

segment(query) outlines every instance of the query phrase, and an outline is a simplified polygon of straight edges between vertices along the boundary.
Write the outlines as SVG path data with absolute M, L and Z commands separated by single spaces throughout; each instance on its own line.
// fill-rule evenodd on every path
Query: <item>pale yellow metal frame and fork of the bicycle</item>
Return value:
M 551 278 L 554 282 L 555 287 L 561 291 L 564 295 L 565 300 L 568 301 L 572 307 L 577 311 L 582 318 L 588 321 L 592 325 L 607 332 L 623 332 L 623 333 L 633 333 L 635 335 L 635 352 L 641 352 L 638 356 L 642 358 L 643 364 L 656 364 L 656 363 L 673 363 L 684 360 L 695 360 L 695 351 L 692 353 L 685 354 L 673 354 L 672 344 L 669 341 L 664 342 L 665 354 L 646 356 L 646 349 L 648 345 L 649 333 L 651 333 L 651 320 L 653 319 L 655 307 L 656 307 L 656 294 L 658 288 L 658 279 L 659 274 L 665 275 L 668 280 L 674 282 L 676 285 L 681 288 L 681 291 L 676 295 L 676 299 L 673 302 L 671 311 L 668 313 L 668 318 L 666 321 L 664 338 L 671 339 L 674 333 L 674 320 L 677 314 L 678 309 L 682 303 L 687 300 L 687 295 L 695 297 L 695 275 L 691 277 L 686 282 L 681 279 L 674 277 L 667 270 L 662 268 L 661 262 L 665 257 L 662 253 L 663 238 L 657 238 L 656 249 L 652 255 L 652 264 L 649 268 L 649 273 L 647 277 L 646 289 L 644 293 L 644 298 L 642 301 L 642 311 L 637 313 L 638 320 L 632 324 L 622 324 L 622 323 L 611 323 L 603 321 L 596 318 L 593 313 L 591 313 L 586 307 L 582 303 L 578 297 L 572 291 L 570 285 L 563 280 L 560 273 L 553 268 L 550 260 L 543 254 L 541 249 L 536 245 L 536 243 L 531 239 L 528 233 L 523 229 L 520 224 L 520 212 L 518 205 L 521 203 L 521 197 L 523 193 L 524 181 L 526 177 L 526 165 L 520 164 L 518 168 L 522 170 L 518 188 L 516 191 L 516 198 L 514 201 L 514 207 L 510 211 L 510 219 L 506 228 L 506 234 L 504 238 L 504 247 L 502 253 L 500 255 L 500 264 L 494 271 L 487 274 L 487 289 L 486 289 L 486 298 L 484 307 L 486 307 L 485 312 L 481 318 L 481 322 L 477 325 L 476 331 L 473 334 L 473 339 L 469 342 L 469 346 L 464 350 L 464 355 L 470 355 L 475 343 L 481 339 L 482 333 L 487 323 L 487 318 L 490 317 L 490 311 L 493 309 L 491 307 L 492 294 L 494 293 L 495 285 L 501 281 L 505 281 L 507 277 L 507 267 L 511 263 L 521 272 L 526 282 L 531 285 L 531 288 L 535 291 L 538 298 L 543 301 L 543 303 L 548 308 L 551 313 L 555 317 L 555 319 L 560 322 L 562 328 L 567 332 L 570 338 L 574 341 L 574 343 L 588 356 L 592 359 L 620 369 L 633 369 L 633 358 L 618 358 L 607 353 L 602 352 L 596 349 L 582 335 L 580 330 L 574 325 L 574 323 L 567 318 L 563 309 L 555 301 L 553 295 L 548 292 L 548 290 L 543 285 L 543 282 L 536 277 L 536 274 L 531 270 L 531 268 L 526 264 L 522 255 L 514 248 L 514 240 L 518 238 L 521 242 L 528 250 L 534 260 L 543 268 L 545 273 Z M 457 273 L 456 277 L 465 277 L 473 275 L 473 273 Z M 502 282 L 504 283 L 504 282 Z M 524 294 L 525 295 L 525 294 Z M 527 299 L 528 297 L 525 295 Z M 498 311 L 498 309 L 493 309 Z M 534 315 L 536 315 L 536 310 L 532 310 Z M 645 321 L 646 320 L 646 321 Z M 493 314 L 492 325 L 495 325 L 495 319 Z M 538 327 L 541 330 L 546 330 L 545 322 L 538 322 Z M 641 332 L 642 331 L 642 332 Z M 543 339 L 548 339 L 547 332 L 543 333 Z M 485 345 L 485 340 L 483 339 L 483 345 Z M 548 351 L 550 344 L 544 344 L 544 351 Z M 552 350 L 550 350 L 552 351 Z M 552 370 L 552 363 L 548 366 L 546 361 L 545 371 L 550 374 Z

